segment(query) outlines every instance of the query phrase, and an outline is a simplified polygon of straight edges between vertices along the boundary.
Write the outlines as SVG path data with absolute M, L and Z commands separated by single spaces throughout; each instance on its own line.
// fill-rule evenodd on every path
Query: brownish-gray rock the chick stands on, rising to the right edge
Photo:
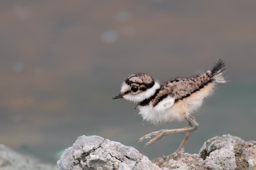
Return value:
M 204 142 L 199 154 L 181 154 L 178 160 L 159 164 L 166 169 L 256 169 L 256 141 L 223 135 Z

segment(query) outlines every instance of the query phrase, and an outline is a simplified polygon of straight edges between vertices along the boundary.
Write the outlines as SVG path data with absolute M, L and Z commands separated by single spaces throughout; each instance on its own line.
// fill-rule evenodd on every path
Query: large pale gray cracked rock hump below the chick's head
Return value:
M 133 147 L 99 136 L 79 137 L 65 150 L 57 167 L 61 170 L 161 169 Z

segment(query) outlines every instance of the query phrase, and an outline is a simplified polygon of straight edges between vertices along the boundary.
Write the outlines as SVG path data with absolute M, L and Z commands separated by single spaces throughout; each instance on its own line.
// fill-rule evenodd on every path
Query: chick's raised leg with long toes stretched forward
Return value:
M 142 136 L 141 138 L 139 138 L 137 140 L 137 142 L 140 142 L 144 139 L 147 139 L 147 138 L 150 138 L 151 136 L 156 136 L 155 138 L 153 138 L 152 140 L 150 140 L 149 142 L 147 142 L 145 144 L 148 145 L 148 144 L 152 144 L 152 143 L 155 143 L 157 140 L 159 140 L 161 137 L 164 137 L 168 134 L 172 134 L 172 133 L 179 133 L 179 132 L 193 132 L 195 130 L 197 130 L 197 128 L 199 127 L 199 124 L 196 122 L 196 119 L 193 117 L 193 116 L 188 116 L 187 118 L 187 121 L 188 121 L 188 127 L 186 128 L 180 128 L 180 129 L 162 129 L 160 131 L 156 131 L 156 132 L 151 132 L 147 135 L 144 135 Z M 189 135 L 188 135 L 189 136 Z M 188 138 L 187 136 L 187 138 Z M 184 138 L 185 139 L 185 138 Z M 186 139 L 187 140 L 187 139 Z M 184 142 L 184 146 L 186 144 L 186 140 Z

